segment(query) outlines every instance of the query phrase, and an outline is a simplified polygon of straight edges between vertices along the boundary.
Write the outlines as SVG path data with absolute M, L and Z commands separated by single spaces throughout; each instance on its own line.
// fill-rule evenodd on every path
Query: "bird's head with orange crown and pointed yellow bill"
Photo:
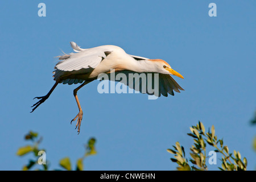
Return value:
M 166 61 L 162 59 L 151 59 L 149 61 L 152 61 L 155 64 L 155 67 L 158 69 L 159 73 L 171 74 L 180 78 L 184 78 L 182 75 L 180 75 L 180 73 L 174 71 L 174 69 L 171 68 L 170 64 L 166 63 Z

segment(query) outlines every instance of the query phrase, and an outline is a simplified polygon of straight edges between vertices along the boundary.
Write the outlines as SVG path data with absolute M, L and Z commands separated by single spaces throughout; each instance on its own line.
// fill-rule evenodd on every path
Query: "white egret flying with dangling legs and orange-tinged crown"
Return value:
M 73 91 L 77 106 L 79 107 L 79 113 L 75 118 L 72 119 L 72 121 L 76 121 L 77 119 L 76 128 L 78 127 L 78 133 L 80 133 L 83 113 L 79 98 L 77 97 L 77 91 L 81 89 L 82 86 L 96 80 L 98 75 L 101 73 L 110 73 L 110 70 L 113 69 L 115 72 L 124 73 L 125 75 L 128 75 L 129 73 L 138 73 L 137 75 L 140 73 L 145 73 L 146 75 L 148 73 L 159 73 L 158 94 L 156 95 L 158 97 L 160 97 L 161 94 L 167 97 L 168 93 L 174 96 L 173 90 L 175 90 L 175 92 L 184 90 L 170 75 L 175 75 L 180 78 L 183 78 L 183 76 L 174 71 L 174 69 L 172 69 L 171 66 L 164 60 L 147 59 L 146 57 L 129 55 L 118 46 L 108 45 L 82 49 L 77 46 L 75 42 L 71 42 L 71 47 L 76 53 L 57 56 L 61 61 L 56 64 L 55 71 L 53 72 L 53 74 L 55 74 L 53 77 L 56 82 L 46 96 L 35 97 L 40 100 L 31 106 L 34 107 L 31 113 L 40 104 L 47 100 L 58 84 L 63 83 L 71 85 L 82 83 Z M 141 89 L 141 85 L 143 83 L 141 81 L 133 81 L 133 85 L 129 85 L 129 82 L 125 82 L 125 84 L 133 89 L 136 88 L 136 86 L 134 86 L 135 84 L 139 84 L 140 86 L 138 88 Z M 148 90 L 146 90 L 146 93 L 151 94 Z

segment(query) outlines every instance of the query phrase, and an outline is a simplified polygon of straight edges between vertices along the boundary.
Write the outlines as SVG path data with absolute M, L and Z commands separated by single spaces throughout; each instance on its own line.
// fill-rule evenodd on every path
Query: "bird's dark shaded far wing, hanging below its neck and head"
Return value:
M 110 74 L 115 74 L 110 76 Z M 120 75 L 118 75 L 120 74 Z M 103 79 L 104 78 L 104 79 Z M 170 75 L 160 73 L 137 73 L 133 71 L 119 71 L 108 73 L 108 77 L 102 75 L 102 80 L 118 81 L 141 93 L 165 97 L 168 93 L 174 96 L 175 92 L 184 90 Z

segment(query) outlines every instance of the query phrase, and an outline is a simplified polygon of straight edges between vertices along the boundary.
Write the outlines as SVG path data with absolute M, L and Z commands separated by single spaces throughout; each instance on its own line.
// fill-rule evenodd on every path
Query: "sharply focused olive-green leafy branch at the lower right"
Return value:
M 218 167 L 222 171 L 246 171 L 247 160 L 241 158 L 241 154 L 238 151 L 229 153 L 228 146 L 224 146 L 223 139 L 218 139 L 215 135 L 214 126 L 205 133 L 205 127 L 203 123 L 199 121 L 196 126 L 190 127 L 191 133 L 188 133 L 189 137 L 193 138 L 193 145 L 190 148 L 189 153 L 191 158 L 185 158 L 184 147 L 180 146 L 179 142 L 176 142 L 174 149 L 167 149 L 168 152 L 174 154 L 174 158 L 171 158 L 172 162 L 177 163 L 177 170 L 180 171 L 205 171 L 207 167 L 207 144 L 214 148 L 214 152 L 219 152 L 221 156 L 221 167 Z

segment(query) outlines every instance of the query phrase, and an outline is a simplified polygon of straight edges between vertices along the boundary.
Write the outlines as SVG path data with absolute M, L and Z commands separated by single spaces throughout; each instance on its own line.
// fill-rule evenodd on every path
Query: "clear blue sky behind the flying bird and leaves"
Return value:
M 38 16 L 40 2 L 46 17 Z M 217 17 L 208 15 L 211 2 Z M 173 170 L 166 149 L 179 141 L 188 153 L 186 133 L 199 120 L 214 125 L 229 150 L 240 151 L 255 169 L 256 133 L 249 125 L 256 109 L 255 6 L 249 0 L 1 1 L 0 169 L 19 170 L 28 162 L 29 155 L 15 152 L 33 130 L 43 136 L 51 168 L 65 156 L 75 163 L 95 137 L 98 154 L 85 160 L 87 170 Z M 166 60 L 184 76 L 174 78 L 185 91 L 148 100 L 145 94 L 99 94 L 93 81 L 78 92 L 84 118 L 77 135 L 69 122 L 78 112 L 78 85 L 58 85 L 30 113 L 32 98 L 54 84 L 54 57 L 72 52 L 71 41 Z

